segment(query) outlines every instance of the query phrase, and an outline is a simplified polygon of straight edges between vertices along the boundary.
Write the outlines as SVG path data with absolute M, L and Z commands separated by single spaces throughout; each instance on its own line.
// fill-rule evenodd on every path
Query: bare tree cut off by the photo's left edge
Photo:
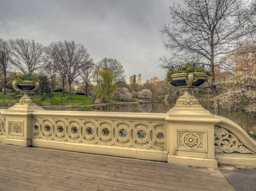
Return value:
M 7 69 L 11 65 L 10 62 L 11 57 L 11 49 L 9 47 L 9 43 L 6 40 L 0 38 L 0 69 L 3 72 L 4 84 L 3 84 L 3 95 L 6 95 L 6 75 Z

